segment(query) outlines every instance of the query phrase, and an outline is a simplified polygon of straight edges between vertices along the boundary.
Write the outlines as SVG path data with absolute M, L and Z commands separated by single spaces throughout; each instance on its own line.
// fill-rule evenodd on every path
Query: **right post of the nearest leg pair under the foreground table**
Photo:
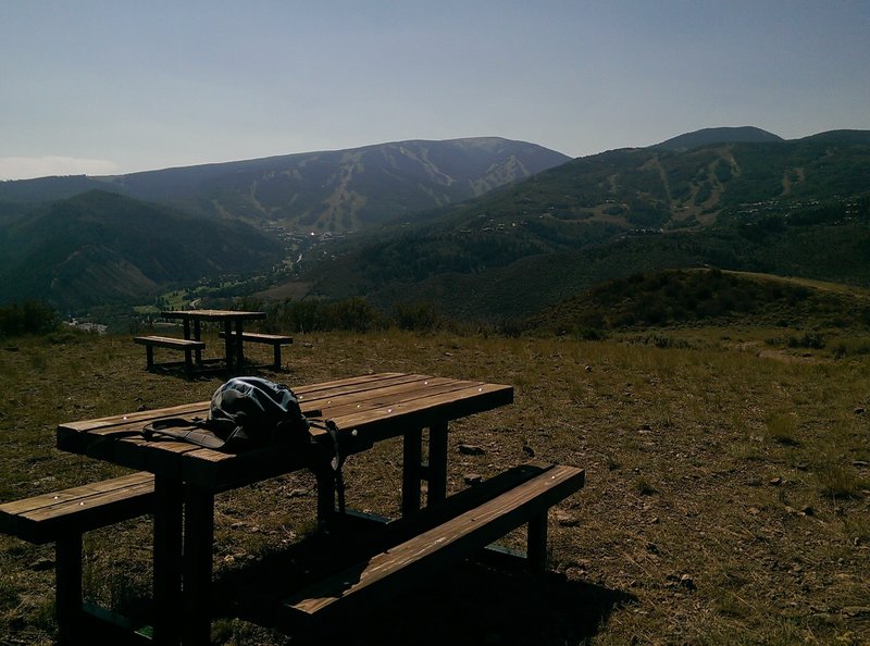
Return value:
M 184 512 L 184 643 L 208 645 L 211 641 L 212 543 L 214 495 L 185 487 Z

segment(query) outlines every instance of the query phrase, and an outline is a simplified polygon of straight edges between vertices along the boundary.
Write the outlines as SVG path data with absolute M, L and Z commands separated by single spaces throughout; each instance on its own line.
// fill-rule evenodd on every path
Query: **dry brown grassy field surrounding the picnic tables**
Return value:
M 512 406 L 451 425 L 451 490 L 531 451 L 587 473 L 551 512 L 554 574 L 457 573 L 430 593 L 437 612 L 409 595 L 344 642 L 869 644 L 870 357 L 763 338 L 297 335 L 288 370 L 264 376 L 293 386 L 408 371 L 515 386 Z M 58 451 L 59 422 L 207 399 L 221 383 L 144 365 L 129 337 L 1 340 L 0 500 L 119 473 Z M 462 443 L 485 452 L 462 455 Z M 352 457 L 348 504 L 395 514 L 400 473 L 398 443 Z M 219 496 L 217 573 L 306 536 L 314 502 L 306 473 Z M 522 533 L 507 542 L 520 547 Z M 148 591 L 149 519 L 88 535 L 85 550 L 88 596 L 123 608 Z M 0 536 L 0 644 L 51 643 L 52 560 L 50 546 Z M 213 639 L 297 643 L 228 619 Z

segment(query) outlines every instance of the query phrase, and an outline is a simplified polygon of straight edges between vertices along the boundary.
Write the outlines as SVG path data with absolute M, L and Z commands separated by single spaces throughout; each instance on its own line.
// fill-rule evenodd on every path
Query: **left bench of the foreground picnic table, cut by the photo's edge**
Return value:
M 153 504 L 153 475 L 139 472 L 0 505 L 0 531 L 30 543 L 54 543 L 62 641 L 73 636 L 83 618 L 82 534 L 149 513 Z

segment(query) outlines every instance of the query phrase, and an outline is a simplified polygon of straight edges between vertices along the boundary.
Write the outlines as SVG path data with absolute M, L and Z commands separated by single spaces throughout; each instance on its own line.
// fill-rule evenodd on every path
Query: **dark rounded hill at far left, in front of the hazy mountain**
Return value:
M 0 228 L 0 302 L 141 303 L 166 285 L 269 268 L 283 251 L 243 223 L 91 190 L 9 215 Z

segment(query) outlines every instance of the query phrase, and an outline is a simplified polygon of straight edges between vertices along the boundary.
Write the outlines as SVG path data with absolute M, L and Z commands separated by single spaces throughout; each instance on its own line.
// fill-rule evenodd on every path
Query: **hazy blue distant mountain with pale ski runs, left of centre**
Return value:
M 346 232 L 473 198 L 569 161 L 498 137 L 399 141 L 105 177 L 0 183 L 0 201 L 103 188 L 214 220 Z

